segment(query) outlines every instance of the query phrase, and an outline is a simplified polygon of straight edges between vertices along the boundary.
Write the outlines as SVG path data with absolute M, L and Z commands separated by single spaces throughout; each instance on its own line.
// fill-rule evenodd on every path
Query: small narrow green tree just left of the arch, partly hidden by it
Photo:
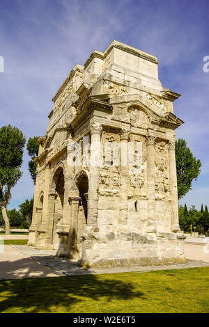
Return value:
M 29 172 L 34 184 L 36 184 L 37 163 L 33 159 L 38 156 L 38 138 L 40 138 L 40 136 L 34 136 L 33 138 L 30 137 L 26 144 L 26 149 L 31 157 L 31 160 L 29 161 Z

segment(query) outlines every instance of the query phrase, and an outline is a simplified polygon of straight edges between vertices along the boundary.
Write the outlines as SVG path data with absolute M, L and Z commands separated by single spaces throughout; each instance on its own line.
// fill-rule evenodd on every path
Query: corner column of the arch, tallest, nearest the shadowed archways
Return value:
M 94 122 L 93 124 L 91 124 L 87 225 L 94 228 L 97 228 L 98 220 L 98 189 L 100 183 L 101 132 L 102 126 L 98 122 Z

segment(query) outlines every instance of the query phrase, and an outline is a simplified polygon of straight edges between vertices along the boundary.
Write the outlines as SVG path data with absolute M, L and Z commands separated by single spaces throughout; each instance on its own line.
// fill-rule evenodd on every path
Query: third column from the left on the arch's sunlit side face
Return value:
M 155 136 L 146 141 L 147 188 L 148 188 L 148 230 L 156 232 L 155 221 Z

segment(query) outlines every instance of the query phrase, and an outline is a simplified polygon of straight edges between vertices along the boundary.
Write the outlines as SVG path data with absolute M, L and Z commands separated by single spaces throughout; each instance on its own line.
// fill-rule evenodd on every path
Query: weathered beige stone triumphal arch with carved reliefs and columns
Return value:
M 75 65 L 39 139 L 29 245 L 89 266 L 185 261 L 175 129 L 157 58 L 113 41 Z

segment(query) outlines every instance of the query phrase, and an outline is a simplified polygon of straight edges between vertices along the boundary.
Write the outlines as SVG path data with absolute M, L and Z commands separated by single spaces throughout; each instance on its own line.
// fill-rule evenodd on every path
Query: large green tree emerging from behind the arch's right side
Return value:
M 201 161 L 193 156 L 183 138 L 176 141 L 176 172 L 178 184 L 178 199 L 183 198 L 190 189 L 192 181 L 196 180 L 201 171 Z

